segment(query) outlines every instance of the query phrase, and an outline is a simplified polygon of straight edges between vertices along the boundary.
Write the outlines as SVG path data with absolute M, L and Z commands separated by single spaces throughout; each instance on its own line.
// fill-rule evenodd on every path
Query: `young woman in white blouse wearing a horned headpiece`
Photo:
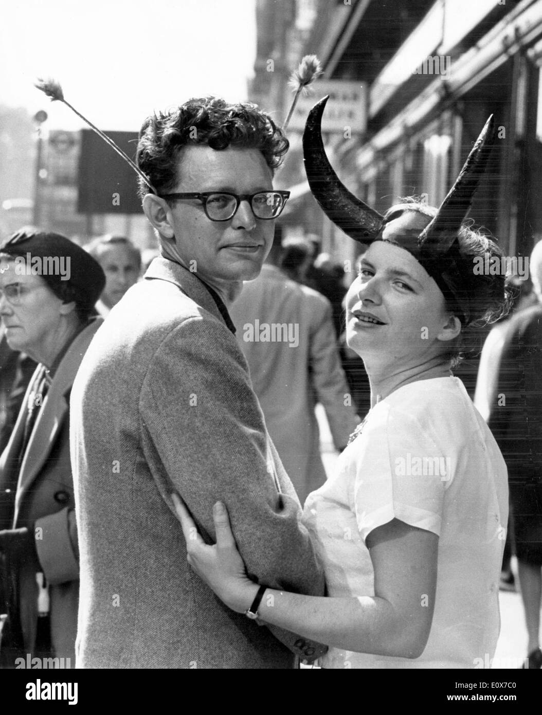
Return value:
M 490 129 L 438 212 L 401 204 L 381 217 L 340 184 L 311 119 L 312 191 L 369 244 L 348 292 L 347 335 L 371 409 L 303 515 L 332 598 L 252 583 L 224 506 L 215 505 L 217 546 L 205 546 L 174 495 L 189 563 L 235 611 L 328 644 L 325 668 L 483 667 L 499 631 L 506 465 L 450 368 L 468 326 L 506 304 L 504 276 L 473 271 L 496 245 L 461 225 Z

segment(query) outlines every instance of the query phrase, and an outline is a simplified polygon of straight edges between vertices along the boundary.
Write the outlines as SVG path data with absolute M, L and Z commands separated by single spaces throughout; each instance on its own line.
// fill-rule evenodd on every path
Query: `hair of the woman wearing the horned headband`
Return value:
M 385 213 L 386 222 L 405 211 L 415 211 L 434 217 L 438 209 L 420 202 L 416 197 L 400 200 Z M 445 355 L 454 367 L 465 358 L 480 352 L 483 341 L 481 328 L 505 317 L 513 304 L 514 288 L 506 272 L 490 272 L 488 267 L 503 262 L 503 251 L 493 240 L 473 225 L 463 223 L 458 232 L 459 255 L 453 268 L 445 274 L 445 282 L 456 300 L 445 297 L 446 308 L 461 321 L 460 335 L 448 342 Z

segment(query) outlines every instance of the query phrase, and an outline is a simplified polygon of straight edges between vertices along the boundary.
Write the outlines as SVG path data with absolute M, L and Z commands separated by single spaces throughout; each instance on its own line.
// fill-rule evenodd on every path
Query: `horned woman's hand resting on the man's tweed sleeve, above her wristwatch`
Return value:
M 189 565 L 226 606 L 237 613 L 245 613 L 256 596 L 258 586 L 247 578 L 245 563 L 237 550 L 226 507 L 220 501 L 213 507 L 217 543 L 207 546 L 199 536 L 184 502 L 175 492 L 172 493 L 172 501 L 187 542 Z

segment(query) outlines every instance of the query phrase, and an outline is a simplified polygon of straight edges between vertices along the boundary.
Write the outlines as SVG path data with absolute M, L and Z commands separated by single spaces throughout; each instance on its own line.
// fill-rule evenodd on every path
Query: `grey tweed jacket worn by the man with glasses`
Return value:
M 295 656 L 265 626 L 230 611 L 189 568 L 174 515 L 177 490 L 214 541 L 212 506 L 222 500 L 252 578 L 322 595 L 247 363 L 194 274 L 156 258 L 109 313 L 74 384 L 70 436 L 77 665 L 292 667 Z M 302 654 L 305 641 L 297 645 Z

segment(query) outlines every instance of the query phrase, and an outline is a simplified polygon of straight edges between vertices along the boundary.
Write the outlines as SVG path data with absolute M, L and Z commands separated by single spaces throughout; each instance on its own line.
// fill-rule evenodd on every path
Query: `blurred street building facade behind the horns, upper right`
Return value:
M 368 84 L 365 132 L 345 127 L 327 146 L 343 182 L 380 211 L 413 194 L 440 204 L 493 113 L 498 139 L 472 215 L 506 255 L 528 255 L 542 237 L 542 0 L 259 0 L 257 26 L 250 97 L 279 121 L 304 54 L 325 79 Z M 319 232 L 336 260 L 355 257 L 303 187 L 300 137 L 290 141 L 277 175 L 292 188 L 287 226 Z

